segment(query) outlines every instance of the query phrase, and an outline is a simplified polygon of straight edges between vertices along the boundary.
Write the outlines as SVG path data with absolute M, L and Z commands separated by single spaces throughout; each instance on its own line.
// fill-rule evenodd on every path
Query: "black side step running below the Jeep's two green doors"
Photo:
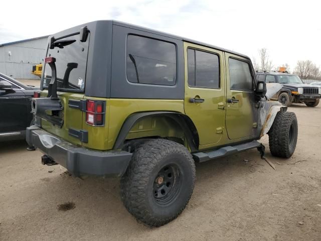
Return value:
M 240 144 L 237 146 L 227 146 L 227 147 L 222 147 L 216 151 L 213 152 L 198 152 L 198 153 L 194 153 L 193 157 L 196 161 L 199 162 L 205 162 L 211 159 L 216 159 L 219 157 L 225 157 L 227 155 L 231 155 L 237 152 L 242 152 L 242 151 L 246 151 L 252 148 L 257 148 L 260 147 L 261 143 L 259 143 L 258 141 L 252 141 L 252 142 L 248 142 L 248 143 L 244 143 L 244 144 Z

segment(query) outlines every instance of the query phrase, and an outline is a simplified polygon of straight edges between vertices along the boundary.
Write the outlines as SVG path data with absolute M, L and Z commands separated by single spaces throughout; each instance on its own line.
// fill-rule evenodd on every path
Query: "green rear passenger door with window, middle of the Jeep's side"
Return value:
M 186 114 L 195 124 L 200 145 L 219 143 L 224 129 L 225 71 L 223 52 L 184 43 Z

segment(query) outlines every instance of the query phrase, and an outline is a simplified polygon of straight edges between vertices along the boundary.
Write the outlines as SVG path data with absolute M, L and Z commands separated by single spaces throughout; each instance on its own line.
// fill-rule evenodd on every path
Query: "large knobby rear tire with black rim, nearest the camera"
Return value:
M 195 164 L 181 144 L 156 139 L 133 153 L 121 179 L 127 210 L 148 226 L 161 226 L 185 209 L 193 193 Z

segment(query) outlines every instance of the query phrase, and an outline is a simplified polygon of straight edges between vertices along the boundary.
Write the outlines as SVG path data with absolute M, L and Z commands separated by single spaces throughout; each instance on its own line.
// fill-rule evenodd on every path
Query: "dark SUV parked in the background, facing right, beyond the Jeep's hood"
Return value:
M 283 72 L 257 72 L 256 79 L 266 83 L 280 83 L 283 87 L 271 99 L 290 106 L 292 103 L 305 103 L 309 107 L 318 105 L 321 88 L 304 84 L 299 76 Z

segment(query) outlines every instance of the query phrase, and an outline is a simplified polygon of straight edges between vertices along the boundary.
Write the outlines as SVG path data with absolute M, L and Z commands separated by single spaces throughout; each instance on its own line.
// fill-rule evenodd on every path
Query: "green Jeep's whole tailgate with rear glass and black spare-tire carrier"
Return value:
M 82 145 L 86 135 L 88 139 L 88 133 L 82 130 L 85 112 L 81 103 L 85 92 L 89 40 L 90 33 L 86 27 L 80 32 L 50 37 L 41 94 L 41 97 L 48 98 L 33 100 L 42 108 L 38 110 L 42 128 L 76 145 Z

